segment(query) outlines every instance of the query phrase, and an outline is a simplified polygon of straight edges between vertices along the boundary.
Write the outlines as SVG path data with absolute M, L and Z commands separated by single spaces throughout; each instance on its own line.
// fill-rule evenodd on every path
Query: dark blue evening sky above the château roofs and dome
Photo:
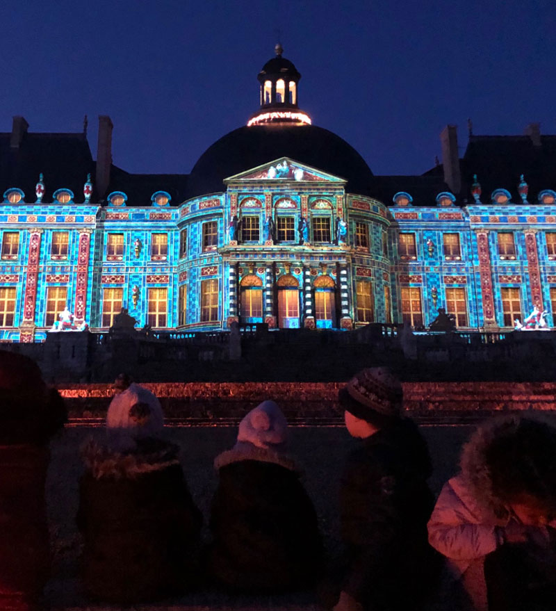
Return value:
M 278 38 L 302 74 L 300 106 L 375 174 L 420 174 L 439 131 L 556 133 L 553 0 L 373 2 L 22 0 L 0 3 L 0 131 L 114 123 L 129 172 L 189 172 L 259 106 Z

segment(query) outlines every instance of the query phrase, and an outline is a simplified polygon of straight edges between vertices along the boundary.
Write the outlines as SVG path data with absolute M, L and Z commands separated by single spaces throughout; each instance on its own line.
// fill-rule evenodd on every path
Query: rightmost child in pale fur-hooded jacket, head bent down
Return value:
M 477 611 L 556 601 L 556 427 L 531 416 L 485 423 L 441 491 L 428 529 L 452 585 Z

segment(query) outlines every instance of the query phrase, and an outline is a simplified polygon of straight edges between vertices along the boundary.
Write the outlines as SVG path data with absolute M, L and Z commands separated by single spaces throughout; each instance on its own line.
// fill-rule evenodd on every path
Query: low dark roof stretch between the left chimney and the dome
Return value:
M 123 191 L 128 206 L 151 206 L 156 191 L 167 191 L 172 196 L 170 206 L 178 206 L 186 199 L 188 174 L 129 174 L 112 166 L 111 181 L 106 195 Z

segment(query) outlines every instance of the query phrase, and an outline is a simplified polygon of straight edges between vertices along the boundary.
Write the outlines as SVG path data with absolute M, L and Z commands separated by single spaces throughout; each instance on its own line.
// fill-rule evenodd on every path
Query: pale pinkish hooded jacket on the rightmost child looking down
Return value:
M 450 572 L 461 583 L 470 607 L 481 611 L 488 609 L 484 560 L 502 545 L 503 528 L 510 520 L 505 504 L 493 493 L 485 459 L 502 427 L 507 427 L 507 419 L 473 434 L 461 455 L 461 473 L 444 484 L 428 523 L 430 544 L 448 558 Z M 548 530 L 537 530 L 548 541 Z

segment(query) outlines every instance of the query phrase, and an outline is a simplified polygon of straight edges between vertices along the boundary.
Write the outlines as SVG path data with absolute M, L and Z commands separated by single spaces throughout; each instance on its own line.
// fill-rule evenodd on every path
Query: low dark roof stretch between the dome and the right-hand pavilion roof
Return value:
M 375 176 L 371 183 L 372 197 L 386 206 L 393 204 L 392 197 L 399 191 L 409 193 L 414 206 L 436 206 L 436 195 L 449 190 L 442 172 L 432 176 Z

